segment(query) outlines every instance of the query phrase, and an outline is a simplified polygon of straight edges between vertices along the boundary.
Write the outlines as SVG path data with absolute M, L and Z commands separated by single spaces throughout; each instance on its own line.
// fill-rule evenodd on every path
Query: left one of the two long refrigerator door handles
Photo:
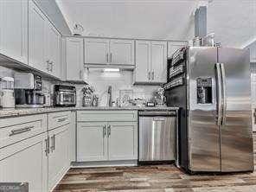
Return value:
M 221 64 L 216 63 L 216 92 L 217 92 L 217 114 L 216 114 L 216 125 L 221 125 L 222 118 L 222 85 L 221 85 Z

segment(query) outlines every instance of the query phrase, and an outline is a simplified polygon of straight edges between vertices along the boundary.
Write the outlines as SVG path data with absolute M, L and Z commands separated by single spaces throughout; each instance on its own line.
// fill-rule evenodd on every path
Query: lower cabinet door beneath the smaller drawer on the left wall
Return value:
M 52 131 L 48 131 L 49 154 L 48 154 L 48 190 L 54 189 L 69 169 L 68 153 L 69 124 L 63 125 Z

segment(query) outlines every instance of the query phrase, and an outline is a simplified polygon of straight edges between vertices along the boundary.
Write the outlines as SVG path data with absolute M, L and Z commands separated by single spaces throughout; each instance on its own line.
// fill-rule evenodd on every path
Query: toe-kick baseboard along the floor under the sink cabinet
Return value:
M 99 161 L 99 162 L 72 162 L 71 163 L 71 168 L 137 166 L 137 165 L 138 165 L 138 160 Z

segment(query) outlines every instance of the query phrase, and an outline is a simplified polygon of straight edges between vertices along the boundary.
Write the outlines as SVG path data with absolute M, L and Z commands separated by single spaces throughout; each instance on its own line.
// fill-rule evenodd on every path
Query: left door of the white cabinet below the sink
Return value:
M 106 123 L 78 123 L 77 161 L 107 160 Z

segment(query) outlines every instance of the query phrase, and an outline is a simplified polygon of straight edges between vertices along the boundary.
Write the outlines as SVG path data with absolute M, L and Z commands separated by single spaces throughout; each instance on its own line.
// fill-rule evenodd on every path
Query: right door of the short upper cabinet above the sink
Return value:
M 134 65 L 134 41 L 111 40 L 110 64 Z

